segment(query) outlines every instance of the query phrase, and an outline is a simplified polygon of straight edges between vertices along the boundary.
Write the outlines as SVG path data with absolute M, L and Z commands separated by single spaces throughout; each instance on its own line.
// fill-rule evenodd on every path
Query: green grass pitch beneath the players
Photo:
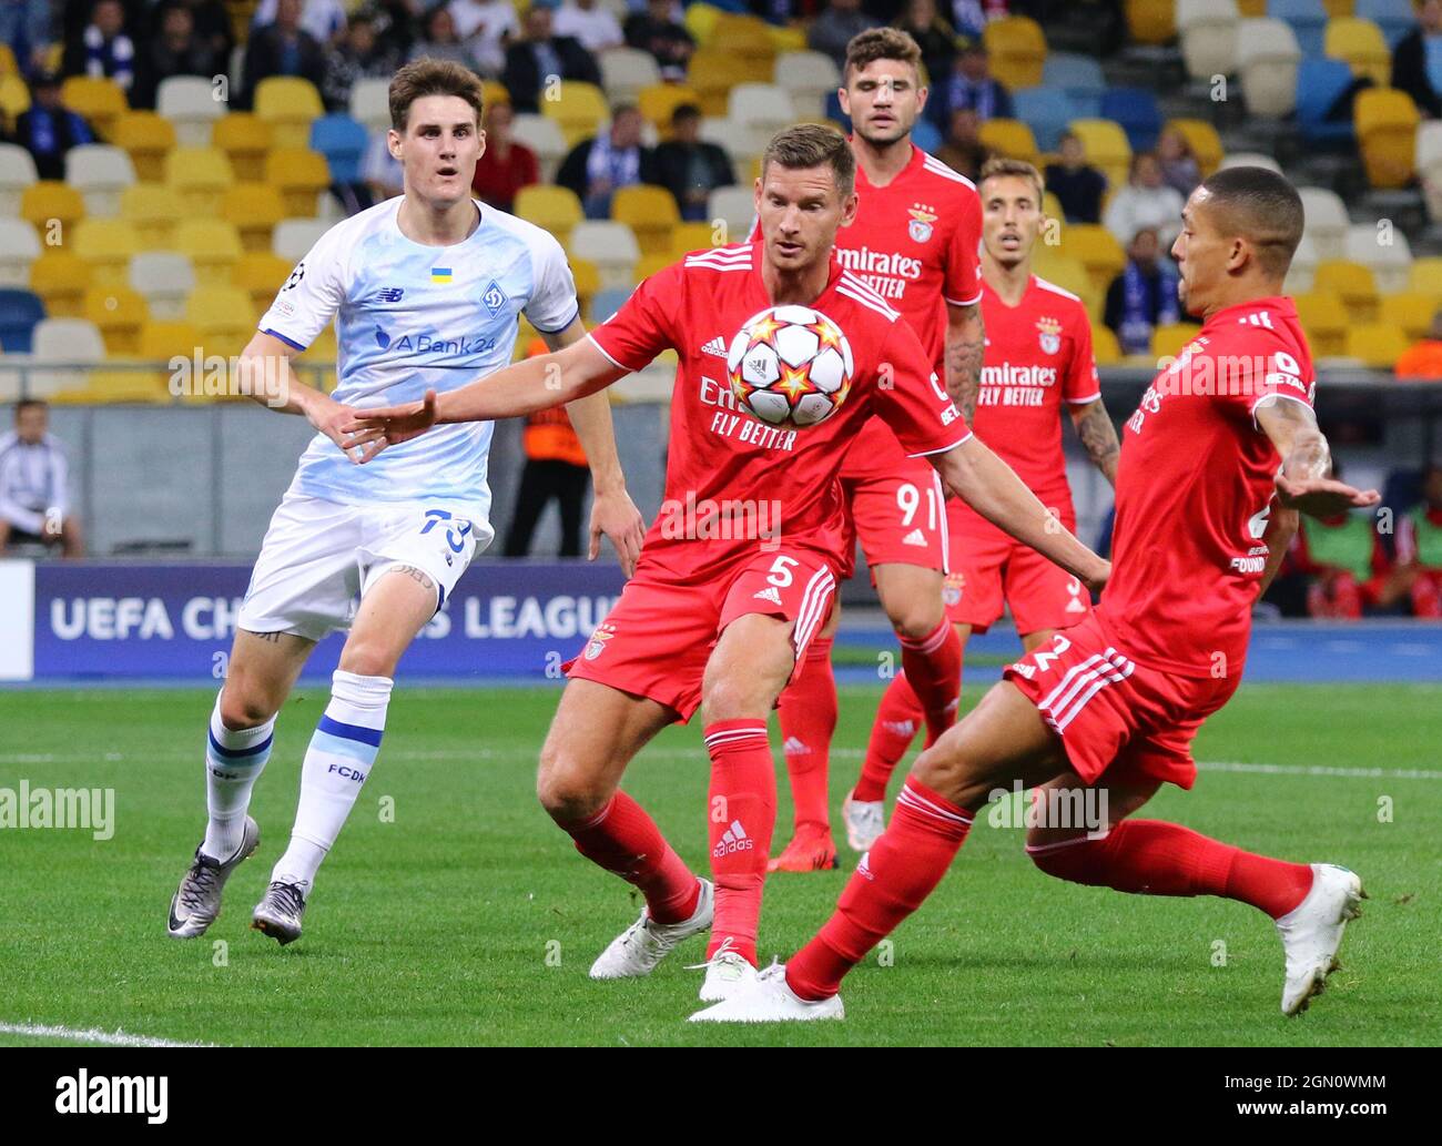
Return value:
M 979 692 L 968 688 L 966 703 Z M 1164 789 L 1144 813 L 1361 872 L 1371 900 L 1348 928 L 1341 970 L 1302 1018 L 1279 1013 L 1280 946 L 1259 912 L 1066 885 L 1031 866 L 1019 830 L 978 820 L 947 879 L 895 933 L 890 966 L 872 956 L 848 979 L 846 1021 L 790 1028 L 684 1023 L 698 1006 L 699 973 L 684 967 L 701 957 L 699 940 L 650 979 L 587 979 L 639 904 L 535 801 L 557 696 L 402 686 L 306 934 L 281 949 L 248 928 L 249 911 L 288 836 L 323 686 L 303 686 L 286 706 L 252 807 L 260 853 L 231 881 L 211 933 L 186 943 L 166 937 L 164 915 L 203 826 L 211 693 L 0 693 L 0 787 L 115 790 L 110 840 L 0 830 L 0 1028 L 322 1045 L 1442 1041 L 1442 686 L 1244 686 L 1203 729 L 1198 760 L 1279 767 L 1207 770 L 1193 793 Z M 877 698 L 842 689 L 833 806 L 857 774 Z M 779 774 L 777 849 L 790 823 Z M 704 871 L 699 729 L 663 734 L 626 787 Z M 845 846 L 842 856 L 849 869 L 855 856 Z M 845 879 L 771 876 L 763 959 L 803 943 Z M 43 1041 L 0 1034 L 0 1044 Z

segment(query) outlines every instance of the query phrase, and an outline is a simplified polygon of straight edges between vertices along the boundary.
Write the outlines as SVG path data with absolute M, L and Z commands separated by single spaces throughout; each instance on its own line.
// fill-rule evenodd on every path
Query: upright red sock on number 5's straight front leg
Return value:
M 761 885 L 776 827 L 776 765 L 766 721 L 717 721 L 707 725 L 711 752 L 711 875 L 717 885 L 711 959 L 722 943 L 756 966 L 761 923 Z

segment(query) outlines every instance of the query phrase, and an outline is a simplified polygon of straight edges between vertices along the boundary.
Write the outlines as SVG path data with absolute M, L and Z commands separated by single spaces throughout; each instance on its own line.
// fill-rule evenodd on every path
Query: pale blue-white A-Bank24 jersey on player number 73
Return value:
M 516 316 L 555 333 L 578 314 L 565 252 L 532 223 L 476 203 L 480 225 L 454 246 L 423 246 L 395 222 L 404 197 L 336 223 L 291 271 L 260 329 L 306 349 L 336 320 L 337 402 L 415 402 L 510 362 Z M 365 466 L 324 434 L 291 490 L 340 505 L 434 502 L 486 522 L 490 422 L 437 425 Z

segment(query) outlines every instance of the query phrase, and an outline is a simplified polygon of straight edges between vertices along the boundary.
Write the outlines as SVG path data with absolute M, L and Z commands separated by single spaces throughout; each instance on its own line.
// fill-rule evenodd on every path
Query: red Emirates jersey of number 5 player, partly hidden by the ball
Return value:
M 590 337 L 617 366 L 639 370 L 662 350 L 681 357 L 671 399 L 666 505 L 646 535 L 642 564 L 678 581 L 701 581 L 746 552 L 751 538 L 694 538 L 678 530 L 688 505 L 774 506 L 779 539 L 836 562 L 844 548 L 841 470 L 846 445 L 872 415 L 913 456 L 945 453 L 970 431 L 932 370 L 911 327 L 835 258 L 820 296 L 809 303 L 845 334 L 854 356 L 851 391 L 835 414 L 805 430 L 782 430 L 737 408 L 727 381 L 727 347 L 771 306 L 761 281 L 761 244 L 686 255 L 652 275 Z M 712 510 L 714 512 L 714 510 Z M 678 532 L 682 533 L 678 536 Z M 773 539 L 763 538 L 761 542 Z

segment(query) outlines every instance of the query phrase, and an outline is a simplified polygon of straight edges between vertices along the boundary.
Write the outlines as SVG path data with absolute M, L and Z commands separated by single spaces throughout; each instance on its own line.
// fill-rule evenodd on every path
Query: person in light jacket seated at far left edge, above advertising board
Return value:
M 17 542 L 59 545 L 66 558 L 85 555 L 79 522 L 69 512 L 65 447 L 48 432 L 49 407 L 22 398 L 14 432 L 0 438 L 0 554 Z

